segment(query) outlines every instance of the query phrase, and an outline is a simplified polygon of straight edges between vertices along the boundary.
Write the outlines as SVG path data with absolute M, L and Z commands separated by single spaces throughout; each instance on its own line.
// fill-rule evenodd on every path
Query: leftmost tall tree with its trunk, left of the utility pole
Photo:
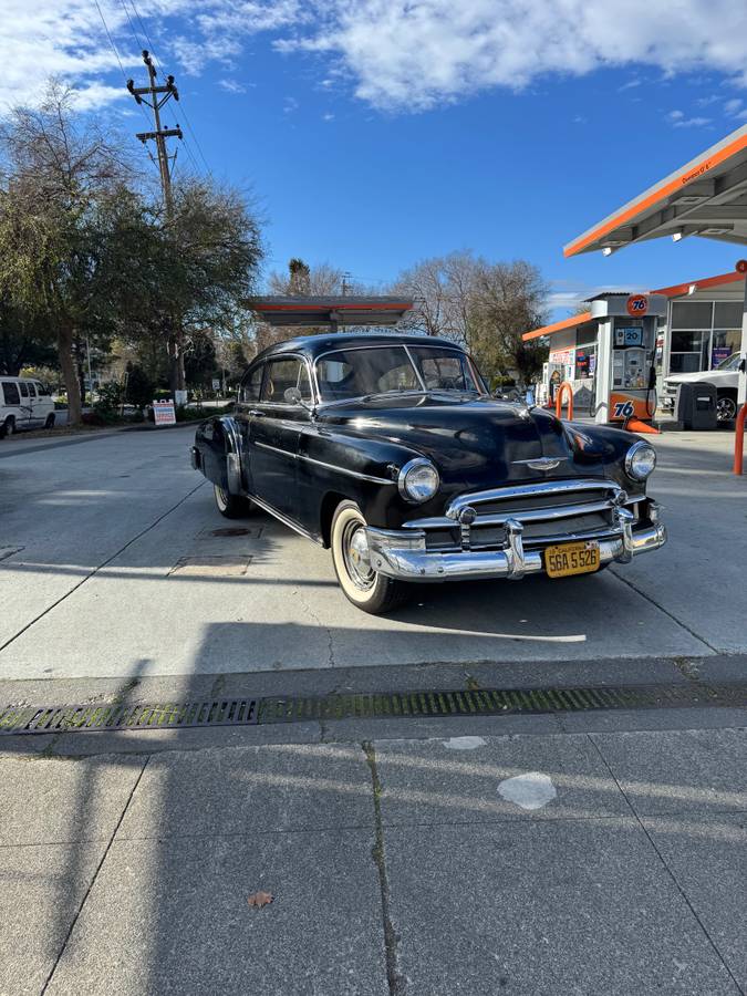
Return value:
M 116 145 L 75 118 L 70 90 L 54 81 L 39 108 L 11 112 L 0 146 L 0 297 L 54 335 L 75 424 L 76 343 L 111 307 L 95 298 L 96 224 L 125 170 Z

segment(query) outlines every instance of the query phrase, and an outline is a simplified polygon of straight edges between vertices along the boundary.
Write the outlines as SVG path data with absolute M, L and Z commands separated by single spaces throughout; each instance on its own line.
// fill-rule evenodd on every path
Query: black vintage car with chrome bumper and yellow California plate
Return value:
M 496 401 L 464 350 L 419 335 L 271 346 L 191 459 L 224 516 L 256 505 L 331 548 L 366 612 L 409 582 L 563 578 L 666 541 L 649 443 Z

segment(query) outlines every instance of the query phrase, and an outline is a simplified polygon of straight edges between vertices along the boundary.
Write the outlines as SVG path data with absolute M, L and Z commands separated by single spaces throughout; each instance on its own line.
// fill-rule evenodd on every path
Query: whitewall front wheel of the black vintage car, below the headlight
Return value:
M 369 612 L 381 615 L 407 601 L 408 588 L 380 574 L 371 567 L 366 522 L 353 501 L 343 501 L 332 519 L 332 563 L 349 601 Z

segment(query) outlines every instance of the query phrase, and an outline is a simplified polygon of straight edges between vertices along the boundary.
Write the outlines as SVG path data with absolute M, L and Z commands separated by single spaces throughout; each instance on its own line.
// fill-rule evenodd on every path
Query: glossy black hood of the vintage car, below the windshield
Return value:
M 331 405 L 320 412 L 319 423 L 416 450 L 436 464 L 445 481 L 490 486 L 594 475 L 588 465 L 574 466 L 573 448 L 554 416 L 488 397 L 456 392 L 382 395 Z M 541 470 L 527 463 L 540 457 L 558 459 L 557 467 Z

